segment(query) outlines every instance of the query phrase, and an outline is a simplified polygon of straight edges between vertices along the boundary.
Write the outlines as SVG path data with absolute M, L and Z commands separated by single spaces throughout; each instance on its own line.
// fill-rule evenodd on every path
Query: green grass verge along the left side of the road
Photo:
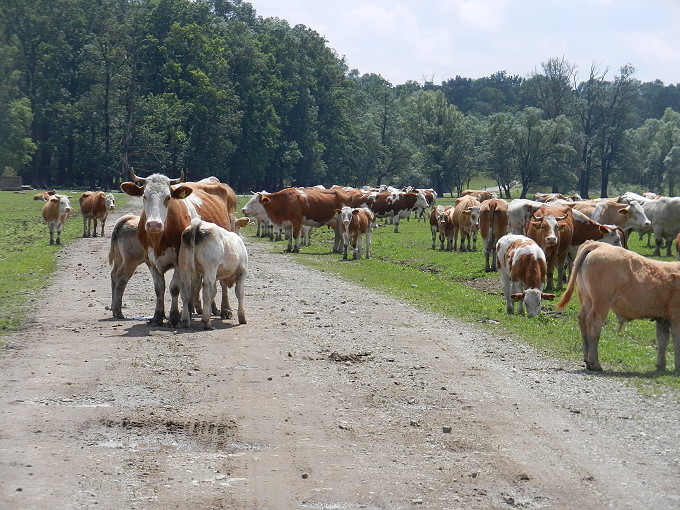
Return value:
M 50 281 L 61 247 L 82 235 L 78 198 L 84 190 L 57 190 L 71 197 L 73 208 L 61 234 L 61 246 L 49 244 L 49 229 L 41 216 L 44 202 L 33 200 L 33 194 L 39 191 L 43 190 L 0 192 L 0 336 L 21 328 L 40 289 Z M 127 195 L 115 196 L 116 206 L 124 207 Z M 105 235 L 110 235 L 112 227 L 112 223 L 107 224 Z

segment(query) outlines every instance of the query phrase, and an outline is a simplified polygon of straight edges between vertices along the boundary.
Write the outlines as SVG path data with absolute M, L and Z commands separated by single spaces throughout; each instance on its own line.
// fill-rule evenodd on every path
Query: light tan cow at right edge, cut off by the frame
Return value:
M 658 370 L 666 369 L 666 347 L 672 334 L 675 371 L 680 371 L 680 262 L 648 259 L 624 248 L 586 241 L 576 254 L 557 310 L 569 304 L 577 285 L 581 302 L 578 324 L 588 370 L 602 370 L 597 346 L 612 310 L 619 321 L 617 332 L 635 319 L 656 322 Z

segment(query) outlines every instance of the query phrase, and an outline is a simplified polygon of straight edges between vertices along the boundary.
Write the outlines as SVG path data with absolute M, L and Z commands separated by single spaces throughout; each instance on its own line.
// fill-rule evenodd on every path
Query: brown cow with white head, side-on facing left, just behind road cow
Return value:
M 333 252 L 340 253 L 340 228 L 335 210 L 351 202 L 350 196 L 338 189 L 286 188 L 276 193 L 254 193 L 241 212 L 248 217 L 267 216 L 274 225 L 286 231 L 287 252 L 300 252 L 302 226 L 328 225 L 335 230 Z

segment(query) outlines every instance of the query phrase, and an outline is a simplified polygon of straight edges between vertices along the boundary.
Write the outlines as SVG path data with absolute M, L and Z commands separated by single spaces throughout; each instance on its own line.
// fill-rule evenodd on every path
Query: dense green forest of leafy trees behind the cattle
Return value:
M 128 165 L 238 191 L 680 185 L 680 85 L 631 64 L 391 84 L 241 0 L 4 0 L 0 30 L 0 173 L 34 187 L 114 188 Z

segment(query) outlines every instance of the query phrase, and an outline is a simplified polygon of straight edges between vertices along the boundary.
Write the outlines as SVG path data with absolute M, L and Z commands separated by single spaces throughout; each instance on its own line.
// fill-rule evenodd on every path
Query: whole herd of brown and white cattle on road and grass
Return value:
M 680 238 L 680 197 L 629 192 L 612 199 L 581 200 L 536 194 L 534 200 L 508 202 L 488 191 L 467 190 L 454 205 L 441 206 L 431 189 L 286 188 L 254 193 L 241 209 L 244 217 L 237 220 L 236 194 L 214 177 L 184 182 L 183 174 L 178 179 L 161 174 L 141 178 L 132 169 L 130 174 L 133 182 L 124 182 L 121 189 L 143 197 L 143 210 L 139 216 L 120 218 L 111 234 L 114 317 L 124 317 L 125 287 L 146 262 L 156 292 L 150 324 L 162 325 L 165 319 L 164 274 L 171 268 L 175 270 L 169 289 L 171 325 L 189 327 L 192 312 L 201 315 L 206 329 L 212 328 L 212 314 L 231 318 L 227 289 L 233 286 L 237 317 L 243 324 L 248 255 L 239 229 L 249 221 L 257 221 L 258 235 L 285 232 L 289 252 L 300 250 L 300 238 L 308 239 L 311 228 L 329 226 L 335 232 L 333 252 L 347 258 L 351 247 L 356 259 L 362 254 L 362 237 L 365 256 L 370 256 L 371 230 L 378 218 L 391 220 L 394 232 L 399 232 L 401 219 L 412 214 L 418 220 L 426 218 L 425 211 L 431 208 L 433 249 L 438 237 L 441 250 L 474 251 L 481 234 L 485 269 L 499 272 L 509 314 L 514 313 L 515 302 L 520 313 L 524 307 L 529 316 L 540 313 L 542 300 L 555 298 L 549 292 L 561 290 L 570 271 L 557 308 L 567 306 L 578 283 L 578 321 L 589 370 L 601 370 L 597 344 L 610 309 L 620 325 L 639 318 L 656 321 L 659 369 L 665 369 L 665 348 L 672 334 L 676 370 L 680 368 L 680 262 L 647 259 L 628 251 L 626 242 L 633 231 L 640 236 L 654 233 L 655 255 L 660 255 L 665 242 L 670 256 L 673 240 Z M 50 244 L 55 234 L 59 244 L 71 212 L 68 197 L 48 192 L 35 198 L 46 200 L 43 218 L 50 226 Z M 97 235 L 98 220 L 103 236 L 106 216 L 114 207 L 112 195 L 84 193 L 80 206 L 83 236 L 90 235 L 90 221 L 94 222 L 92 235 Z M 222 288 L 220 308 L 214 302 L 217 282 Z

